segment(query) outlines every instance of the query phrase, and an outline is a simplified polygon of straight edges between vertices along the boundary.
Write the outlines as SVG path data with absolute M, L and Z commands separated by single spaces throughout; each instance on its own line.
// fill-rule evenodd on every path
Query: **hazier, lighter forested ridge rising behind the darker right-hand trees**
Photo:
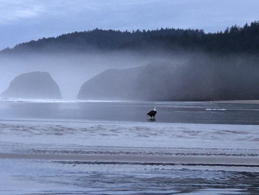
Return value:
M 43 38 L 17 44 L 13 49 L 6 48 L 2 52 L 50 52 L 50 51 L 76 51 L 87 52 L 89 50 L 116 50 L 127 47 L 130 43 L 144 39 L 166 38 L 171 36 L 182 36 L 184 34 L 201 37 L 202 30 L 183 29 L 156 29 L 148 31 L 119 31 L 94 29 L 84 32 L 74 32 L 60 35 L 56 38 Z

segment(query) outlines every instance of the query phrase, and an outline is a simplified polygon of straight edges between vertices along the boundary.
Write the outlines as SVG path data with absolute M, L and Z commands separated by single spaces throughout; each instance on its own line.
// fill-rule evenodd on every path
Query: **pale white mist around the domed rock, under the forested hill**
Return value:
M 81 85 L 88 79 L 109 68 L 144 66 L 150 61 L 173 59 L 169 54 L 140 55 L 136 52 L 94 52 L 90 54 L 27 54 L 0 56 L 0 93 L 19 74 L 33 71 L 48 72 L 60 87 L 63 98 L 75 99 Z

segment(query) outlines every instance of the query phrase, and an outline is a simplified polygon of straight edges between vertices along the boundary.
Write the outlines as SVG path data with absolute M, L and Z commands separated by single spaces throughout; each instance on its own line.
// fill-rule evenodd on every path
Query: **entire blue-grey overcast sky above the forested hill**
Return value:
M 0 49 L 93 28 L 224 30 L 259 20 L 259 0 L 0 0 Z

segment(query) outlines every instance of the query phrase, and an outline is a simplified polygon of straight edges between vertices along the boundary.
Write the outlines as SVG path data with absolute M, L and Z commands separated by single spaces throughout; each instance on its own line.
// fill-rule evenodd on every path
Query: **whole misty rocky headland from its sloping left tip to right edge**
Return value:
M 86 81 L 80 99 L 209 101 L 259 99 L 257 61 L 194 59 L 185 64 L 153 62 L 110 69 Z

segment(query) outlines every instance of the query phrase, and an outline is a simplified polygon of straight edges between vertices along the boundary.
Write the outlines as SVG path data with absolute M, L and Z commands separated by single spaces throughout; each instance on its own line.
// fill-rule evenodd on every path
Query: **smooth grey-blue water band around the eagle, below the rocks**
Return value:
M 72 119 L 146 122 L 157 107 L 156 122 L 257 124 L 259 104 L 221 102 L 121 102 L 0 99 L 2 119 Z

